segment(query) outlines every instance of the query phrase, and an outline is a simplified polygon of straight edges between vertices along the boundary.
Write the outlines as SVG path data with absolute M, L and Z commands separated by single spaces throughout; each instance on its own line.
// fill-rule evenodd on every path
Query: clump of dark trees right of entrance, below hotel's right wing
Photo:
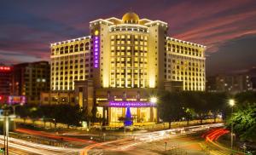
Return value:
M 169 122 L 186 118 L 200 118 L 200 122 L 212 113 L 216 120 L 219 112 L 224 112 L 226 104 L 226 95 L 224 93 L 206 93 L 196 91 L 183 92 L 162 92 L 160 93 L 159 112 L 160 118 Z

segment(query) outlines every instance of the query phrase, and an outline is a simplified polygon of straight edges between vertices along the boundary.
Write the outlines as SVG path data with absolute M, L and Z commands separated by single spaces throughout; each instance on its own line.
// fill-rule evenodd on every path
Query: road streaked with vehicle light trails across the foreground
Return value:
M 11 152 L 16 154 L 208 154 L 226 155 L 230 152 L 224 146 L 220 146 L 216 141 L 218 137 L 227 130 L 211 130 L 204 137 L 207 141 L 198 136 L 199 132 L 209 128 L 218 128 L 223 126 L 223 123 L 197 125 L 178 129 L 166 129 L 154 132 L 136 133 L 126 135 L 125 138 L 116 141 L 106 141 L 102 143 L 91 142 L 90 145 L 84 148 L 64 148 L 57 146 L 46 146 L 36 144 L 29 141 L 22 141 L 15 138 L 9 138 L 9 148 Z M 35 135 L 41 135 L 42 132 L 32 130 L 22 130 Z M 52 134 L 43 133 L 45 136 L 55 137 Z M 60 138 L 57 136 L 55 138 Z M 76 141 L 77 139 L 65 138 L 66 141 Z M 79 142 L 82 142 L 78 139 Z M 83 142 L 88 142 L 84 140 Z M 0 144 L 3 144 L 3 135 L 0 136 Z M 209 149 L 210 148 L 210 149 Z M 208 149 L 208 150 L 206 150 Z M 210 150 L 210 151 L 209 151 Z M 14 153 L 15 154 L 15 153 Z

